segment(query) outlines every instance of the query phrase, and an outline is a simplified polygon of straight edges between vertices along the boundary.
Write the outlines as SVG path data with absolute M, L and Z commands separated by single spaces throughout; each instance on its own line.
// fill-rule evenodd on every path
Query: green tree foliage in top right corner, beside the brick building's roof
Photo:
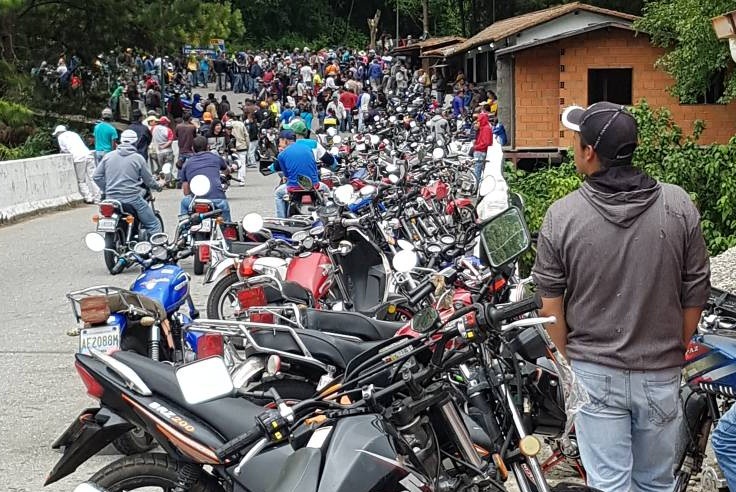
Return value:
M 733 5 L 732 0 L 652 0 L 644 6 L 635 26 L 667 50 L 658 64 L 674 78 L 670 91 L 681 102 L 695 103 L 724 71 L 725 94 L 719 102 L 736 96 L 728 43 L 719 41 L 711 26 L 711 18 L 733 10 Z

